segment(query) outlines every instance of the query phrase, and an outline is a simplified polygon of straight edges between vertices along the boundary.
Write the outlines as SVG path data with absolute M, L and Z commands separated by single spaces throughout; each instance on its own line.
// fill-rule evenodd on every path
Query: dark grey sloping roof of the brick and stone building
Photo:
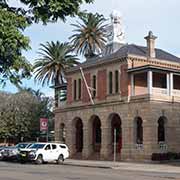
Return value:
M 180 58 L 174 56 L 173 54 L 170 54 L 164 50 L 161 49 L 155 49 L 156 52 L 156 59 L 158 60 L 167 60 L 170 62 L 177 62 L 180 63 Z M 81 63 L 79 66 L 81 67 L 89 67 L 97 64 L 102 64 L 105 62 L 110 62 L 115 59 L 120 59 L 124 57 L 128 57 L 128 55 L 135 55 L 135 56 L 142 56 L 147 57 L 147 47 L 139 46 L 135 44 L 126 44 L 123 45 L 119 50 L 117 50 L 115 53 L 102 56 L 102 57 L 95 57 L 91 58 L 83 63 Z M 70 68 L 68 72 L 74 71 L 79 69 L 79 66 L 75 66 L 73 68 Z

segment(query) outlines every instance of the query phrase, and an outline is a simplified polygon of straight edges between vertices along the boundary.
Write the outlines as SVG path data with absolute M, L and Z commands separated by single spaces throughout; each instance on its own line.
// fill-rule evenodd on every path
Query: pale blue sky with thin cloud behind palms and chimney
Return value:
M 10 1 L 17 4 L 17 0 Z M 109 17 L 113 10 L 117 10 L 123 16 L 127 43 L 145 45 L 144 36 L 147 35 L 149 30 L 152 30 L 158 36 L 156 47 L 180 56 L 179 7 L 179 0 L 95 0 L 94 4 L 83 5 L 82 9 L 101 13 L 106 18 Z M 68 41 L 68 37 L 72 34 L 70 24 L 76 20 L 75 18 L 68 18 L 66 23 L 58 21 L 46 26 L 40 23 L 27 28 L 25 34 L 30 37 L 32 49 L 24 52 L 26 58 L 30 62 L 34 62 L 38 57 L 37 51 L 40 43 L 56 40 L 61 42 Z M 33 89 L 41 89 L 46 95 L 53 96 L 53 89 L 35 84 L 33 78 L 23 81 L 23 85 Z M 3 89 L 0 87 L 0 90 L 17 91 L 9 83 Z

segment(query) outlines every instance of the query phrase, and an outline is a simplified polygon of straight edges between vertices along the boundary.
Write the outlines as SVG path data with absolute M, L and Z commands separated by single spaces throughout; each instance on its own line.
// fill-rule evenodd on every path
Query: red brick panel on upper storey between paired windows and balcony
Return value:
M 120 90 L 121 90 L 121 96 L 128 96 L 129 93 L 129 86 L 130 86 L 130 80 L 127 73 L 127 64 L 122 64 L 121 69 L 121 77 L 120 77 Z

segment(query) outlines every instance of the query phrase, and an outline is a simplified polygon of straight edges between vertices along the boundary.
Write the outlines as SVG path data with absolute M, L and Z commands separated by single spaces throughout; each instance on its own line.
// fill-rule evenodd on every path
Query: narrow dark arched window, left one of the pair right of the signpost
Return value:
M 135 118 L 135 143 L 143 144 L 143 121 L 141 117 Z

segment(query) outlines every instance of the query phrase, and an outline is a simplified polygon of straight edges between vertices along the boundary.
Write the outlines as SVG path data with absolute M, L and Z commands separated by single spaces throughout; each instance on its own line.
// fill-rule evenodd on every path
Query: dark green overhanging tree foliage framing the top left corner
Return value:
M 31 23 L 65 21 L 67 16 L 80 14 L 80 5 L 93 0 L 19 0 L 21 7 L 13 7 L 8 0 L 0 0 L 0 83 L 14 84 L 30 76 L 31 65 L 22 56 L 28 50 L 29 39 L 23 30 Z

